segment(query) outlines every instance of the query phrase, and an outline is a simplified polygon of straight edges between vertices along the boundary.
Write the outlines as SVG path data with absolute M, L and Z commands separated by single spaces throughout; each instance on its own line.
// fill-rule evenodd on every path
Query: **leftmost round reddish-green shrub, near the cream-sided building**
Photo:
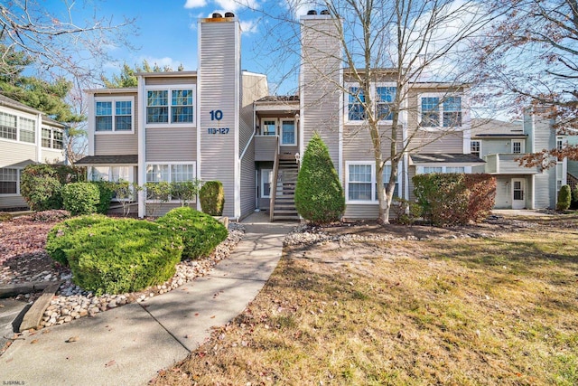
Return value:
M 33 164 L 23 169 L 20 193 L 35 212 L 62 208 L 62 184 L 50 165 Z

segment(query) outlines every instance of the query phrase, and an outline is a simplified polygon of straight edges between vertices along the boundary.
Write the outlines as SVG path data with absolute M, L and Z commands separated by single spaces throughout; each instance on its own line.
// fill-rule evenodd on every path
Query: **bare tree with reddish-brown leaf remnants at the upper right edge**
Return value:
M 501 6 L 503 0 L 497 0 Z M 527 108 L 552 118 L 558 134 L 578 129 L 578 2 L 519 0 L 508 3 L 503 17 L 489 29 L 479 52 L 480 77 L 499 90 L 509 110 Z M 556 158 L 578 160 L 578 146 L 543 149 L 525 155 L 527 166 L 555 165 Z

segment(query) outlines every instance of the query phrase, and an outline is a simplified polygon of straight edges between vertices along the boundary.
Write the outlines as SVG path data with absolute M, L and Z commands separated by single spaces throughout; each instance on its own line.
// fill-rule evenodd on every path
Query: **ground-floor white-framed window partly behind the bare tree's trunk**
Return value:
M 374 161 L 348 161 L 346 162 L 345 197 L 350 203 L 377 203 L 378 184 L 376 178 L 376 165 Z M 383 168 L 384 187 L 389 184 L 391 165 Z M 399 174 L 396 180 L 394 196 L 399 194 Z

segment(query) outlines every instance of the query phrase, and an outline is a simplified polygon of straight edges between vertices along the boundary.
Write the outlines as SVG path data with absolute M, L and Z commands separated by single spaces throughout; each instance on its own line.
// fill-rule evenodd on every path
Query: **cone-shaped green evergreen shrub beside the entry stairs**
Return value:
M 318 134 L 305 149 L 297 175 L 295 207 L 307 221 L 323 224 L 339 221 L 345 210 L 345 196 L 329 150 Z

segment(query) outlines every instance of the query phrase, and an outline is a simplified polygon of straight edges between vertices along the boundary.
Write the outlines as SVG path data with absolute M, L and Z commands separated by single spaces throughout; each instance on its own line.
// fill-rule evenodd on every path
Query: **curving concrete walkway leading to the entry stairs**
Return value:
M 281 257 L 295 224 L 263 213 L 243 221 L 246 237 L 228 259 L 199 278 L 142 305 L 23 334 L 0 356 L 0 381 L 26 385 L 144 385 L 181 361 L 241 313 Z M 8 383 L 6 383 L 8 384 Z

